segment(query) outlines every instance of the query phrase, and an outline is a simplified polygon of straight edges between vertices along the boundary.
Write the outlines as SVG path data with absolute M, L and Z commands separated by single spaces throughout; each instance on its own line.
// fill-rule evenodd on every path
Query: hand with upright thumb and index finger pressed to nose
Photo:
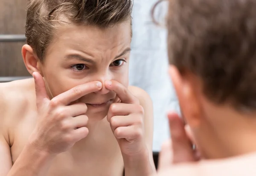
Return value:
M 39 150 L 50 154 L 67 151 L 88 134 L 88 129 L 85 127 L 88 121 L 85 115 L 86 104 L 70 104 L 90 92 L 99 91 L 102 89 L 102 83 L 93 81 L 82 84 L 50 100 L 42 76 L 34 72 L 33 77 L 38 123 L 29 141 Z

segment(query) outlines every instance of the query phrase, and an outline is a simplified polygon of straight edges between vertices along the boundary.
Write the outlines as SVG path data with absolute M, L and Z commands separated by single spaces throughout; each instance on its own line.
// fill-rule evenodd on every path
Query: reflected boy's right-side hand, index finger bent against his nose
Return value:
M 105 81 L 105 87 L 116 92 L 119 98 L 111 104 L 107 119 L 122 154 L 133 156 L 145 152 L 144 109 L 140 101 L 117 81 Z

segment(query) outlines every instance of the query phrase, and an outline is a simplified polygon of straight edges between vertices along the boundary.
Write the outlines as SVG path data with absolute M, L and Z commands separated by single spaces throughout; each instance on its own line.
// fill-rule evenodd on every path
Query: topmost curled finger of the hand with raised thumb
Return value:
M 85 103 L 76 103 L 69 106 L 66 106 L 67 112 L 72 117 L 76 117 L 78 115 L 84 115 L 87 112 L 87 105 Z

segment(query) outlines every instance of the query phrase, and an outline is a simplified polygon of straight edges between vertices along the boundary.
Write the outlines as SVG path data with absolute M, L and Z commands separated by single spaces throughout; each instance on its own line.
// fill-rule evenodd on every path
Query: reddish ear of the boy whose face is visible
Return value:
M 25 63 L 26 69 L 32 75 L 33 72 L 41 72 L 41 62 L 37 55 L 33 52 L 33 49 L 29 45 L 24 45 L 21 49 L 23 62 Z M 43 76 L 43 75 L 42 75 Z

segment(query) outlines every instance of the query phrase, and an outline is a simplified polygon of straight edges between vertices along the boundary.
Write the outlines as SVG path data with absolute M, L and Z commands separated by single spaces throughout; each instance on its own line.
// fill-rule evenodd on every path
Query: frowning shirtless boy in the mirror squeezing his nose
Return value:
M 29 0 L 23 61 L 0 84 L 0 176 L 150 176 L 152 104 L 128 87 L 131 0 Z

